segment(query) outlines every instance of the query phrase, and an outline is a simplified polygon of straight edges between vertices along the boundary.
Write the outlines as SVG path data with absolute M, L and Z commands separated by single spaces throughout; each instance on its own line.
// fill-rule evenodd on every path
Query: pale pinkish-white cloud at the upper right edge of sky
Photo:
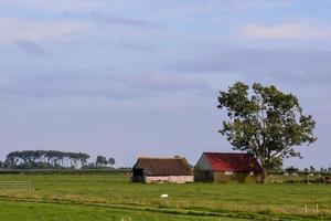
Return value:
M 331 27 L 308 22 L 293 22 L 277 25 L 247 24 L 241 35 L 260 39 L 319 39 L 331 38 Z

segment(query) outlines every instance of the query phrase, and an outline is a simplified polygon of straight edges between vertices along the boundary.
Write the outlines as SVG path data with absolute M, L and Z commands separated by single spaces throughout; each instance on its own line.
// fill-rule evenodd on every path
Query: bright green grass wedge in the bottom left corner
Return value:
M 233 220 L 227 218 L 166 214 L 92 207 L 82 204 L 60 204 L 23 201 L 1 201 L 0 221 L 212 221 Z M 236 219 L 237 220 L 237 219 Z

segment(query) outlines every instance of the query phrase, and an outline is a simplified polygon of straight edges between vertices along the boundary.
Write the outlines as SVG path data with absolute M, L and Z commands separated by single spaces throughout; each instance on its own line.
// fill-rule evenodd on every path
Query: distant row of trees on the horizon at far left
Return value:
M 84 152 L 66 152 L 58 150 L 22 150 L 11 151 L 0 168 L 6 169 L 76 169 L 114 167 L 115 159 L 98 156 L 95 162 L 89 162 L 89 155 Z

